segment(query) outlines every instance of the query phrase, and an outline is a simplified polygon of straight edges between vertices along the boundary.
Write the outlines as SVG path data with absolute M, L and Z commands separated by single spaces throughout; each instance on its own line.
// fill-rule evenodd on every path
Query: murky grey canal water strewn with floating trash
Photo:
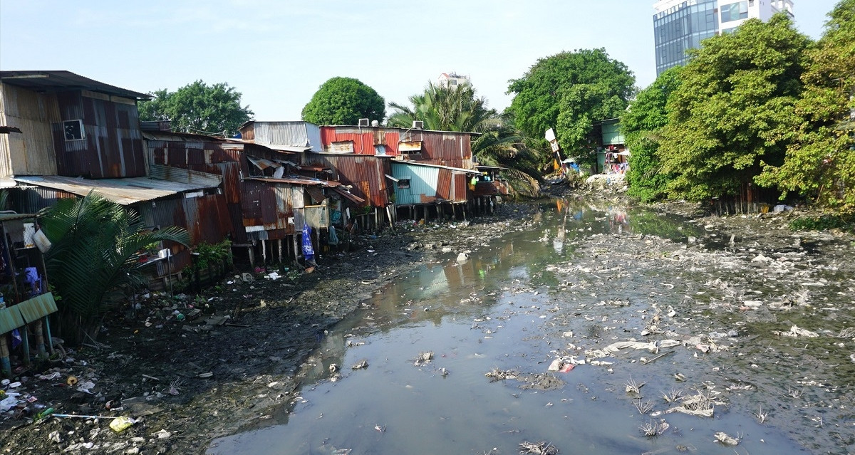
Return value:
M 769 316 L 764 307 L 783 293 L 780 283 L 732 269 L 735 252 L 731 262 L 715 252 L 692 256 L 688 238 L 704 229 L 678 218 L 576 201 L 542 209 L 467 261 L 457 262 L 453 251 L 376 294 L 324 337 L 292 412 L 265 416 L 257 429 L 216 440 L 208 453 L 511 454 L 522 442 L 546 441 L 561 453 L 780 455 L 809 452 L 796 440 L 812 440 L 813 431 L 817 446 L 846 453 L 832 442 L 852 434 L 851 411 L 834 408 L 836 399 L 837 409 L 851 409 L 846 375 L 839 385 L 820 381 L 833 397 L 798 385 L 799 375 L 783 365 L 817 339 L 766 340 L 791 322 L 810 327 L 796 313 Z M 755 300 L 762 307 L 745 307 Z M 627 340 L 679 345 L 605 350 Z M 433 358 L 423 361 L 428 352 Z M 775 360 L 767 365 L 757 356 Z M 367 368 L 351 369 L 363 359 Z M 548 372 L 556 359 L 574 368 Z M 517 379 L 490 381 L 491 371 Z M 633 383 L 644 383 L 639 393 L 627 392 Z M 786 397 L 792 387 L 799 396 Z M 681 399 L 663 394 L 703 396 L 713 417 L 668 412 Z M 803 406 L 849 417 L 836 430 L 793 423 L 789 416 Z M 668 428 L 655 437 L 640 429 L 662 420 Z M 722 445 L 718 432 L 739 444 Z

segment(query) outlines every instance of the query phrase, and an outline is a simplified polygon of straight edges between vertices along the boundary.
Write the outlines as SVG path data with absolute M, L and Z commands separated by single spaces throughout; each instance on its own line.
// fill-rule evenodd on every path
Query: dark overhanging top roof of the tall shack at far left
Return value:
M 21 86 L 33 92 L 91 90 L 124 98 L 151 99 L 148 94 L 110 86 L 71 71 L 0 71 L 0 80 L 3 80 L 3 84 Z

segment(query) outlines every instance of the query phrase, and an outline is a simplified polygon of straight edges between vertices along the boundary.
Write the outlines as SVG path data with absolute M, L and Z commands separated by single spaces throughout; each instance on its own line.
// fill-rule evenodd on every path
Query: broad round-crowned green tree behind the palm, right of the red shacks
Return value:
M 622 114 L 634 95 L 634 83 L 627 66 L 604 49 L 562 52 L 541 58 L 522 78 L 510 80 L 508 92 L 515 96 L 509 110 L 528 137 L 543 138 L 547 129 L 555 128 L 566 153 L 593 163 L 598 142 L 594 124 Z M 540 145 L 549 150 L 545 139 Z

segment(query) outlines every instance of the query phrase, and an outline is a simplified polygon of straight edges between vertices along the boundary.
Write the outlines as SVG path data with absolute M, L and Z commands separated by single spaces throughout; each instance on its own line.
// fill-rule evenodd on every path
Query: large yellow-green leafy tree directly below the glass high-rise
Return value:
M 690 50 L 658 151 L 663 171 L 675 175 L 670 195 L 734 195 L 760 174 L 761 161 L 783 162 L 809 44 L 781 14 Z

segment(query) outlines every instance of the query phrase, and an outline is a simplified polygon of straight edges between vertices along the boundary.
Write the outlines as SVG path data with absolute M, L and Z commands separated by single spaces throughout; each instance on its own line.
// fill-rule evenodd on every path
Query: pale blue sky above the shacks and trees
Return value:
M 794 0 L 819 38 L 836 0 Z M 2 0 L 0 69 L 65 69 L 138 92 L 227 82 L 257 120 L 299 120 L 318 86 L 357 78 L 407 103 L 468 74 L 496 109 L 537 59 L 603 47 L 656 77 L 652 0 Z

